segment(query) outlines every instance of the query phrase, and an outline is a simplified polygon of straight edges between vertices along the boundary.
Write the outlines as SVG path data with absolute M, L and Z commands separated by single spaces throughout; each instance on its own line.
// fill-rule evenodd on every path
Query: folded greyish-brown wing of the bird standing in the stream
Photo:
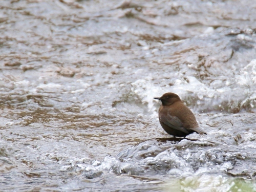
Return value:
M 189 132 L 183 127 L 181 120 L 176 116 L 167 115 L 159 115 L 159 119 L 161 122 L 171 127 L 172 129 L 184 132 L 189 134 Z

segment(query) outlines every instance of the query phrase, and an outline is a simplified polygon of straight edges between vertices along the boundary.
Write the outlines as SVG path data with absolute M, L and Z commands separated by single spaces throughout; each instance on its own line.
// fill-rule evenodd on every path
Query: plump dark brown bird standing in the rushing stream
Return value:
M 154 97 L 162 101 L 158 116 L 164 131 L 174 137 L 186 137 L 197 132 L 206 134 L 198 126 L 195 115 L 180 100 L 175 93 L 165 93 L 161 97 Z

